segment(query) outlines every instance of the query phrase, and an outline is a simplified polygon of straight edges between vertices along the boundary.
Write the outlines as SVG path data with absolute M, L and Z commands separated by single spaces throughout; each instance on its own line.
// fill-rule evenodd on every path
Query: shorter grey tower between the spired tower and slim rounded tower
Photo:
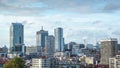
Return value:
M 48 57 L 53 57 L 55 53 L 55 38 L 52 35 L 45 38 L 45 49 Z

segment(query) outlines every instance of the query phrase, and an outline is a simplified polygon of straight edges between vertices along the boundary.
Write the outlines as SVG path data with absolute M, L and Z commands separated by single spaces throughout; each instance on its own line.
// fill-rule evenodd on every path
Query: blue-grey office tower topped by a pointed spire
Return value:
M 45 47 L 45 36 L 48 36 L 48 31 L 43 30 L 42 27 L 42 29 L 36 33 L 37 46 Z

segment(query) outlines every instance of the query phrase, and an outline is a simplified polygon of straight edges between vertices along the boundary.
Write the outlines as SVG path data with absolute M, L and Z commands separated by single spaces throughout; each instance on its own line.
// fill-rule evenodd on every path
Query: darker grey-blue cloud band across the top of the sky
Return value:
M 0 14 L 103 13 L 119 10 L 119 3 L 119 0 L 0 0 Z

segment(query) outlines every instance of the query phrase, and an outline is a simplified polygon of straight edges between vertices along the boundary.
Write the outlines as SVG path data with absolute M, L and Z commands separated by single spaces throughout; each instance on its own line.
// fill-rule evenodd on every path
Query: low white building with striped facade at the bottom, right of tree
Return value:
M 50 68 L 50 59 L 33 58 L 30 68 Z

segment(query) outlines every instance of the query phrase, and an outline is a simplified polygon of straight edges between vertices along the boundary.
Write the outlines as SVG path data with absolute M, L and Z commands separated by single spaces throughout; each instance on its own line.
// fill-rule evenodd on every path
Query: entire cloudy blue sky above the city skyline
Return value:
M 0 45 L 9 47 L 11 23 L 24 25 L 24 43 L 36 45 L 36 31 L 62 27 L 65 43 L 120 41 L 120 0 L 0 0 Z

